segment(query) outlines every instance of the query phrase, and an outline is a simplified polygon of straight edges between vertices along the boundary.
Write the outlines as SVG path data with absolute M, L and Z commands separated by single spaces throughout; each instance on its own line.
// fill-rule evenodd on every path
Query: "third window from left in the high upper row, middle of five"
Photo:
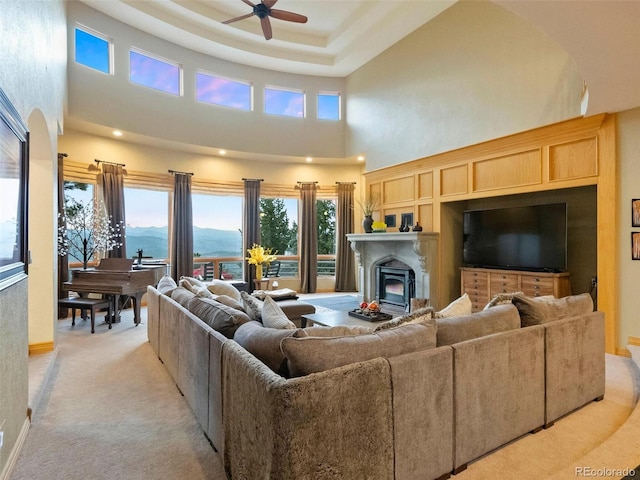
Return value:
M 253 87 L 248 82 L 238 82 L 204 72 L 196 73 L 196 99 L 222 107 L 251 111 Z

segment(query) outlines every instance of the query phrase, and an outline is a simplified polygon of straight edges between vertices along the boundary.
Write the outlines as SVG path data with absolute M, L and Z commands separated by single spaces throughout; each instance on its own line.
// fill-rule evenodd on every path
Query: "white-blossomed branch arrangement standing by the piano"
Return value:
M 125 226 L 112 224 L 101 202 L 83 203 L 74 199 L 65 201 L 64 215 L 58 215 L 58 254 L 69 255 L 87 262 L 95 254 L 104 254 L 122 246 Z

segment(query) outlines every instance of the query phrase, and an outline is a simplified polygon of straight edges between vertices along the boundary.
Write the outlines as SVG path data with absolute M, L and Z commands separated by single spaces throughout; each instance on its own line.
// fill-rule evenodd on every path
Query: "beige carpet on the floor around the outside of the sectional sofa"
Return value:
M 153 354 L 146 325 L 134 327 L 130 311 L 113 330 L 97 325 L 94 335 L 88 322 L 61 320 L 58 341 L 53 369 L 43 366 L 46 356 L 30 360 L 34 380 L 50 381 L 41 391 L 42 381 L 30 382 L 33 424 L 11 480 L 224 478 L 221 459 Z M 603 401 L 453 478 L 562 480 L 576 478 L 576 467 L 639 465 L 640 407 L 633 409 L 640 374 L 631 359 L 607 355 L 606 363 Z

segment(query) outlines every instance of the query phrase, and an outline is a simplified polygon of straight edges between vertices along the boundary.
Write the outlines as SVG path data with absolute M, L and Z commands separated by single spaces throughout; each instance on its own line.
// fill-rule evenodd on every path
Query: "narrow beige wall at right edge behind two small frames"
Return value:
M 640 108 L 627 110 L 618 115 L 618 159 L 619 212 L 618 242 L 620 258 L 618 264 L 618 285 L 620 286 L 620 322 L 618 345 L 624 347 L 629 337 L 640 344 L 640 261 L 631 260 L 631 232 L 640 228 L 631 227 L 631 200 L 640 198 Z

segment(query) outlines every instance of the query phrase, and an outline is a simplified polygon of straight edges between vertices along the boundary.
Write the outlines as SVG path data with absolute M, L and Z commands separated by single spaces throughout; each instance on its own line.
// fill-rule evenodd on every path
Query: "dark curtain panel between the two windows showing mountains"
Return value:
M 171 230 L 171 276 L 193 276 L 193 210 L 191 175 L 175 173 L 173 186 L 173 227 Z

